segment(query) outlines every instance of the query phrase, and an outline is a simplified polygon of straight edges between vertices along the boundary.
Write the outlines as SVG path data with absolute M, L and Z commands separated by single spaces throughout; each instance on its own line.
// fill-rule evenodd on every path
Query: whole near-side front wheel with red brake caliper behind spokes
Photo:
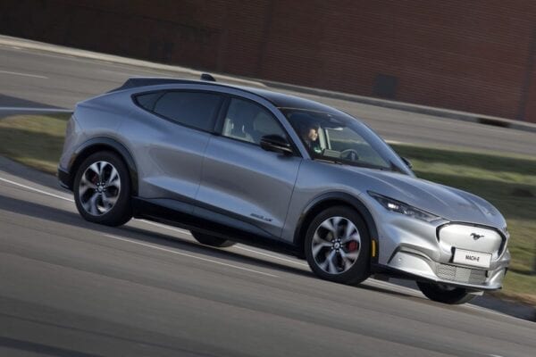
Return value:
M 355 285 L 370 275 L 370 245 L 361 216 L 345 206 L 332 207 L 307 228 L 306 259 L 320 278 Z

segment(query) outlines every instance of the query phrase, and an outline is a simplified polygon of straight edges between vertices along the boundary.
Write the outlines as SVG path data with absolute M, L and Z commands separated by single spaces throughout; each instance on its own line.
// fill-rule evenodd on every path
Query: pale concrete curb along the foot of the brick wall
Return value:
M 65 46 L 50 45 L 50 44 L 46 44 L 46 43 L 42 43 L 38 41 L 32 41 L 32 40 L 18 38 L 18 37 L 9 37 L 9 36 L 4 36 L 4 35 L 0 35 L 0 46 L 25 48 L 29 50 L 37 50 L 37 51 L 43 51 L 43 52 L 48 52 L 48 53 L 54 53 L 54 54 L 66 54 L 66 55 L 71 55 L 71 56 L 80 57 L 80 58 L 94 59 L 98 61 L 128 64 L 128 65 L 142 67 L 146 69 L 148 68 L 148 69 L 160 70 L 160 71 L 173 71 L 178 74 L 182 74 L 182 75 L 186 74 L 186 75 L 194 76 L 194 77 L 199 77 L 201 73 L 203 73 L 202 71 L 192 70 L 187 67 L 172 66 L 168 64 L 136 60 L 136 59 L 121 57 L 121 56 L 113 55 L 113 54 L 99 54 L 96 52 L 80 50 L 80 49 L 75 49 L 75 48 L 70 48 L 70 47 L 65 47 Z M 335 92 L 335 91 L 324 90 L 320 88 L 301 87 L 301 86 L 291 85 L 288 83 L 274 82 L 270 80 L 242 79 L 242 78 L 232 77 L 232 76 L 228 76 L 224 74 L 214 74 L 214 78 L 220 81 L 230 82 L 230 83 L 238 84 L 241 86 L 281 88 L 281 89 L 286 89 L 290 91 L 295 91 L 298 93 L 331 97 L 334 99 L 347 100 L 350 102 L 356 102 L 356 103 L 362 103 L 362 104 L 370 104 L 370 105 L 380 106 L 384 108 L 396 109 L 396 110 L 400 110 L 404 112 L 416 112 L 420 114 L 432 115 L 432 116 L 448 118 L 448 119 L 453 119 L 453 120 L 463 120 L 463 121 L 497 126 L 501 128 L 518 129 L 518 130 L 530 131 L 530 132 L 536 133 L 536 123 L 532 124 L 532 123 L 527 123 L 527 122 L 523 122 L 519 120 L 509 120 L 509 119 L 498 118 L 498 117 L 493 117 L 489 115 L 481 115 L 481 114 L 472 113 L 472 112 L 459 112 L 459 111 L 452 111 L 448 109 L 430 107 L 430 106 L 425 106 L 425 105 L 389 101 L 389 100 L 373 98 L 373 97 L 363 96 L 363 95 L 351 95 L 348 93 Z

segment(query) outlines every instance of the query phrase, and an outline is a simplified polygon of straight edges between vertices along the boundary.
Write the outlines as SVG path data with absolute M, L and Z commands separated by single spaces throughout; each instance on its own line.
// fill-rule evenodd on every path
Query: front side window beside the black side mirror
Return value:
M 255 103 L 231 98 L 222 136 L 259 145 L 265 135 L 287 137 L 272 113 Z

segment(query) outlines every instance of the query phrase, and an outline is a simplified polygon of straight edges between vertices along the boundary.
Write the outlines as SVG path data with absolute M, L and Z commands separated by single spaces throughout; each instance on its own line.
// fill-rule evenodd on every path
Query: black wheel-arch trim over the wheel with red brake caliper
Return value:
M 375 241 L 376 252 L 373 256 L 373 262 L 378 262 L 378 228 L 376 228 L 376 223 L 373 220 L 373 215 L 371 214 L 371 212 L 369 212 L 368 208 L 366 208 L 366 206 L 363 202 L 361 202 L 360 199 L 358 199 L 354 195 L 349 195 L 346 192 L 328 192 L 314 197 L 313 200 L 307 203 L 304 212 L 302 212 L 299 217 L 299 220 L 297 221 L 297 227 L 294 232 L 294 243 L 297 245 L 300 245 L 302 243 L 302 237 L 304 233 L 303 230 L 306 229 L 304 224 L 308 220 L 312 219 L 311 213 L 317 213 L 316 211 L 322 211 L 324 208 L 327 208 L 323 207 L 323 203 L 329 203 L 332 201 L 346 203 L 361 214 L 364 219 L 364 223 L 369 230 L 371 240 Z M 331 203 L 329 204 L 331 205 Z

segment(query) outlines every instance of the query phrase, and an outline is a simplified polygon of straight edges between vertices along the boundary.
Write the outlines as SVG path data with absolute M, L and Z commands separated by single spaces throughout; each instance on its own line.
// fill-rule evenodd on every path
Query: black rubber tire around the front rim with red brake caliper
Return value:
M 360 238 L 360 242 L 355 243 L 355 245 L 359 246 L 356 248 L 356 250 L 350 251 L 347 245 L 335 245 L 338 239 L 344 240 L 340 239 L 342 235 L 340 235 L 340 233 L 332 233 L 332 239 L 329 240 L 328 233 L 326 239 L 322 239 L 322 245 L 324 244 L 323 242 L 328 242 L 331 244 L 331 246 L 322 247 L 321 250 L 316 253 L 317 258 L 319 257 L 319 255 L 323 255 L 325 257 L 324 262 L 318 262 L 318 260 L 315 259 L 314 256 L 314 234 L 317 232 L 317 229 L 319 229 L 318 234 L 320 236 L 320 234 L 322 233 L 321 229 L 323 229 L 322 223 L 326 220 L 336 219 L 339 217 L 342 219 L 346 219 L 346 226 L 348 226 L 348 222 L 353 223 L 353 225 L 355 226 L 354 228 L 356 228 L 356 231 L 358 232 Z M 343 220 L 343 223 L 341 224 L 344 224 L 344 222 L 345 221 Z M 335 231 L 339 230 L 339 228 L 335 229 Z M 337 237 L 333 237 L 333 235 L 336 235 Z M 346 268 L 346 264 L 344 262 L 342 254 L 339 253 L 336 246 L 339 251 L 342 251 L 345 254 L 356 253 L 357 251 L 356 260 L 352 263 L 348 270 Z M 371 238 L 368 233 L 368 229 L 366 228 L 366 225 L 364 223 L 364 220 L 361 218 L 359 213 L 349 207 L 335 206 L 320 212 L 314 218 L 314 220 L 311 221 L 309 227 L 307 228 L 304 250 L 309 267 L 311 268 L 311 270 L 313 270 L 314 274 L 316 274 L 320 278 L 334 281 L 340 284 L 356 285 L 370 276 Z M 333 253 L 333 251 L 335 251 L 335 253 Z M 341 270 L 336 271 L 334 273 L 322 269 L 322 264 L 326 264 L 326 262 L 328 262 L 328 256 L 331 256 L 332 253 L 335 255 L 331 259 L 331 262 L 339 262 L 342 265 L 340 267 L 337 267 L 341 268 Z

